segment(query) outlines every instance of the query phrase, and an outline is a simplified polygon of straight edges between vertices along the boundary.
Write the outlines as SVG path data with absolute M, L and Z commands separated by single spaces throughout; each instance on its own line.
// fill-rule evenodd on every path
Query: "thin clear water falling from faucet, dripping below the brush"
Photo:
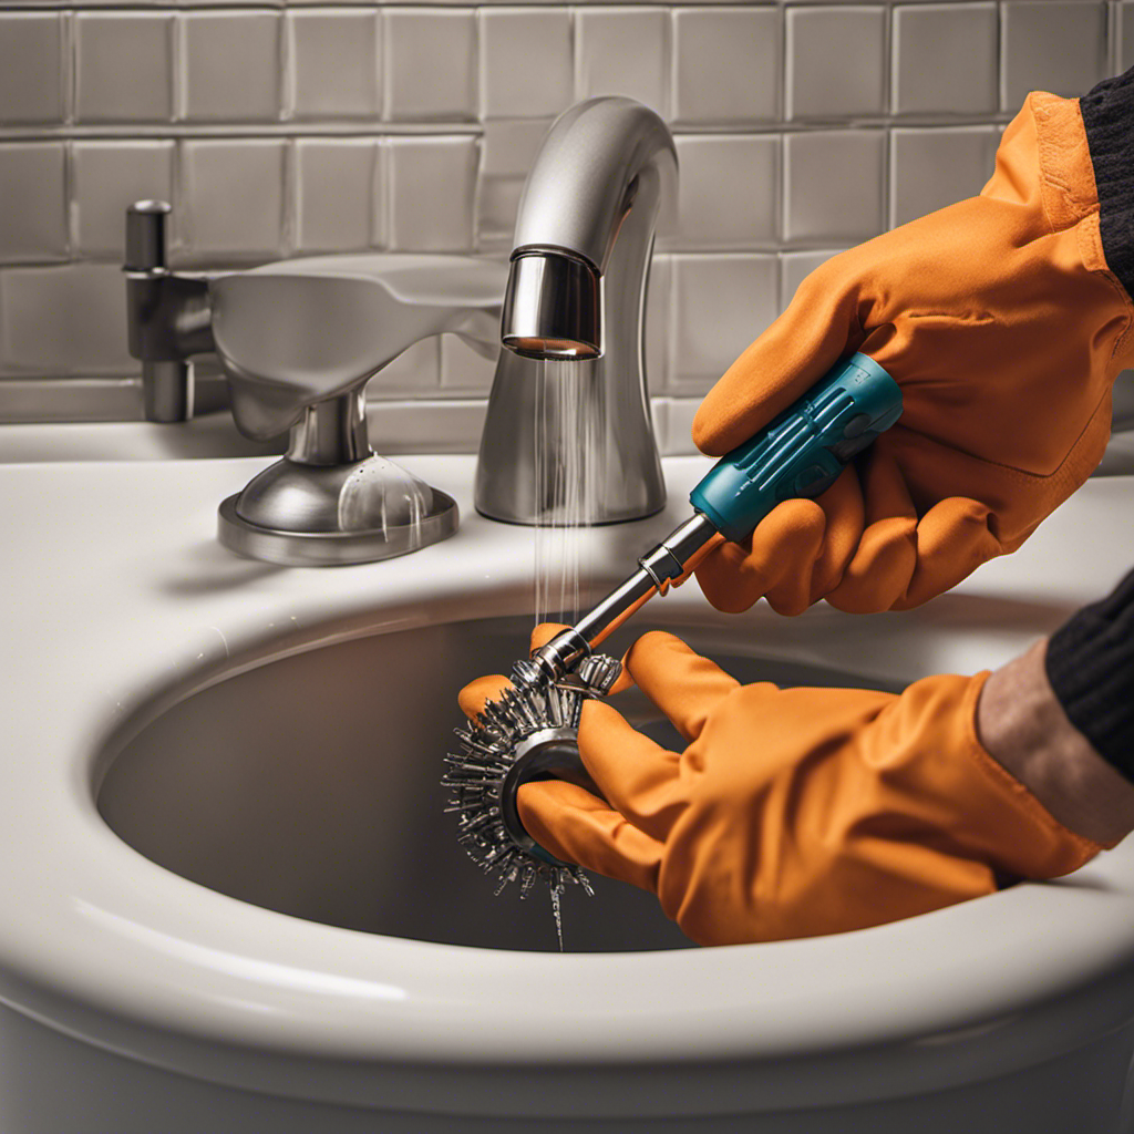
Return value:
M 535 621 L 573 625 L 582 615 L 591 562 L 585 525 L 598 514 L 602 482 L 599 462 L 600 407 L 592 388 L 593 367 L 577 362 L 543 362 L 535 391 L 534 528 Z M 558 890 L 551 906 L 564 951 Z

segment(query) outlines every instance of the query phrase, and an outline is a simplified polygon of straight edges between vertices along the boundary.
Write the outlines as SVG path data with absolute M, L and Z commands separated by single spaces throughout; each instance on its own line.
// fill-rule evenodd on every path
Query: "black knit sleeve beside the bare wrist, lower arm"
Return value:
M 1051 635 L 1047 671 L 1067 719 L 1134 781 L 1134 570 Z

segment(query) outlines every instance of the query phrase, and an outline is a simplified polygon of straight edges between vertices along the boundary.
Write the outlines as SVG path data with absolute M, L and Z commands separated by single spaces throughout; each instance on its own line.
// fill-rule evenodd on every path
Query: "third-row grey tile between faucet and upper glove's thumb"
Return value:
M 704 393 L 778 314 L 773 255 L 674 256 L 672 392 Z

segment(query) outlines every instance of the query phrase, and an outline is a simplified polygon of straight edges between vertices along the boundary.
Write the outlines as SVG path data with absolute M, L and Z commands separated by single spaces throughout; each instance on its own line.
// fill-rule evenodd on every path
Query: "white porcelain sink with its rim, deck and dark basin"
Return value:
M 264 464 L 0 463 L 5 1134 L 1115 1128 L 1134 847 L 721 949 L 609 883 L 570 894 L 559 955 L 549 903 L 492 896 L 438 784 L 457 689 L 524 649 L 531 531 L 473 513 L 472 458 L 407 457 L 458 500 L 452 539 L 349 568 L 242 560 L 217 503 Z M 663 515 L 587 533 L 592 598 L 703 469 L 667 460 Z M 916 611 L 722 616 L 691 585 L 623 641 L 672 628 L 745 680 L 995 667 L 1134 561 L 1132 505 L 1134 479 L 1097 479 Z

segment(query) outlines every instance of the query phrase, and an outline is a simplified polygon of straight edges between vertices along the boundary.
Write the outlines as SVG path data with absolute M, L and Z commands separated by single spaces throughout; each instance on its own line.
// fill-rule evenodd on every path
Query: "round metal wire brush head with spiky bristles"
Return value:
M 542 878 L 553 896 L 567 883 L 593 895 L 578 866 L 556 858 L 524 830 L 516 793 L 532 780 L 561 779 L 601 798 L 578 755 L 578 721 L 583 702 L 606 694 L 620 671 L 616 659 L 594 654 L 576 674 L 551 683 L 532 662 L 519 661 L 513 688 L 455 730 L 459 751 L 446 756 L 441 779 L 452 793 L 446 811 L 456 813 L 457 839 L 469 857 L 496 875 L 497 894 L 518 882 L 525 898 Z

